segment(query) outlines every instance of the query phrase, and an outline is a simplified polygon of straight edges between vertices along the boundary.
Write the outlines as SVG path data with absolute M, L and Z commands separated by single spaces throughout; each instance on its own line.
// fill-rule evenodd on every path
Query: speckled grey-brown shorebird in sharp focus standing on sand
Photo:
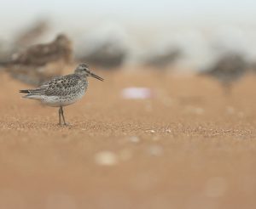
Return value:
M 43 104 L 59 107 L 59 125 L 61 125 L 61 116 L 64 125 L 67 125 L 63 106 L 73 104 L 84 96 L 88 87 L 88 76 L 92 76 L 100 81 L 104 80 L 102 77 L 92 73 L 88 65 L 80 64 L 73 74 L 53 78 L 39 88 L 20 90 L 20 93 L 26 93 L 23 98 L 38 99 Z

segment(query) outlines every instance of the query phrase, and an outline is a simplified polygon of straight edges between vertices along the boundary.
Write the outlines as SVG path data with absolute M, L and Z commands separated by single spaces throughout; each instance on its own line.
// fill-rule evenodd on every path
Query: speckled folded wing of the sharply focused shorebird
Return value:
M 65 96 L 80 88 L 81 82 L 79 76 L 71 74 L 56 77 L 51 81 L 44 83 L 40 89 L 44 89 L 44 95 L 46 96 Z

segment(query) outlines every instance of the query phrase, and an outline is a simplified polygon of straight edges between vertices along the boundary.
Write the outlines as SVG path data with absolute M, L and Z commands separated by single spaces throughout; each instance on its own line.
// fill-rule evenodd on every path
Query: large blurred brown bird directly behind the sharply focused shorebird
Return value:
M 53 42 L 33 45 L 13 54 L 12 59 L 0 65 L 20 81 L 39 85 L 53 76 L 60 76 L 64 66 L 72 60 L 72 44 L 61 34 Z

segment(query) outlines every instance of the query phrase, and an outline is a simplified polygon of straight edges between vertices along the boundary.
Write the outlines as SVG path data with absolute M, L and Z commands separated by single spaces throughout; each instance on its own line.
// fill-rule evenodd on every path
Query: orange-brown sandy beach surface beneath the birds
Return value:
M 0 73 L 0 209 L 256 208 L 256 77 L 98 73 L 67 127 Z

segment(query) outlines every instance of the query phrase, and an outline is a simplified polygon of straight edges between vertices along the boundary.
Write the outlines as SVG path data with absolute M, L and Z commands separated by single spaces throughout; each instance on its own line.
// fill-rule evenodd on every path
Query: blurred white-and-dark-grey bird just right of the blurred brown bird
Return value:
M 123 25 L 106 22 L 84 35 L 76 48 L 76 58 L 102 70 L 118 69 L 130 55 L 130 38 Z

